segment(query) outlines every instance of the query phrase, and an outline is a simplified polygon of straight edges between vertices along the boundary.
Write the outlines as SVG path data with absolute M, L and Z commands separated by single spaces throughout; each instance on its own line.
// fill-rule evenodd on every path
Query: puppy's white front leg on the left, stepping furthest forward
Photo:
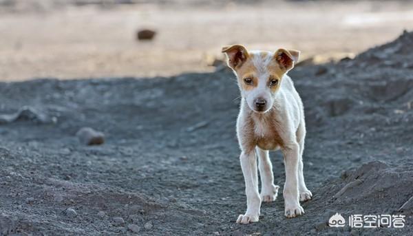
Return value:
M 244 173 L 246 212 L 237 219 L 238 224 L 249 224 L 258 221 L 260 215 L 261 198 L 258 193 L 257 158 L 255 151 L 240 155 L 242 173 Z

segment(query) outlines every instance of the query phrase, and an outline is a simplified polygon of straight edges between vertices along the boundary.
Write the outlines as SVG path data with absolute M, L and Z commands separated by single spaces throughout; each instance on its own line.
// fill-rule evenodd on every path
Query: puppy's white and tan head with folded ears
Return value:
M 296 50 L 248 52 L 244 46 L 237 44 L 222 47 L 222 52 L 237 76 L 241 95 L 248 107 L 260 113 L 273 107 L 282 77 L 293 69 L 299 59 L 299 51 Z

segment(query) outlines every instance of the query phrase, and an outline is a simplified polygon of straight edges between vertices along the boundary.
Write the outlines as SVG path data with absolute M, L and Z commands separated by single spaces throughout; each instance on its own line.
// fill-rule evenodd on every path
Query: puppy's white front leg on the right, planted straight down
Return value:
M 298 195 L 298 161 L 299 161 L 299 146 L 293 143 L 285 147 L 284 163 L 286 167 L 286 183 L 284 185 L 284 215 L 288 218 L 293 218 L 304 214 L 304 209 L 299 204 Z

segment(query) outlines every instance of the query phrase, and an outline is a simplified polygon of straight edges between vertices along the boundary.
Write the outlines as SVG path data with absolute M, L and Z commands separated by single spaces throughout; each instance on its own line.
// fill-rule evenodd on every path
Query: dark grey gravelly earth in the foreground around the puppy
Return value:
M 314 197 L 286 219 L 280 195 L 246 226 L 235 224 L 246 197 L 231 72 L 0 83 L 0 114 L 17 114 L 0 124 L 0 235 L 412 235 L 412 42 L 405 32 L 290 73 L 306 107 Z M 81 144 L 82 127 L 105 143 Z M 282 186 L 281 155 L 271 155 Z M 336 212 L 404 214 L 406 226 L 330 228 Z

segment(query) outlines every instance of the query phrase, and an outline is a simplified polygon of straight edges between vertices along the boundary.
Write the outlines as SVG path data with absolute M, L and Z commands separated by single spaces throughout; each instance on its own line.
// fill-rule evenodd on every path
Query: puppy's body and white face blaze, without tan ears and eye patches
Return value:
M 253 51 L 248 54 L 260 54 L 260 52 Z M 299 200 L 306 201 L 312 197 L 303 175 L 302 155 L 306 125 L 301 98 L 295 90 L 293 81 L 286 74 L 279 82 L 281 85 L 277 92 L 271 92 L 269 89 L 266 83 L 269 72 L 266 68 L 269 63 L 274 63 L 272 53 L 268 53 L 265 58 L 260 56 L 254 58 L 258 85 L 254 89 L 241 91 L 242 102 L 237 118 L 237 137 L 242 151 L 240 162 L 247 199 L 246 213 L 237 218 L 237 223 L 241 224 L 257 222 L 261 203 L 272 202 L 277 197 L 279 186 L 274 184 L 273 167 L 268 157 L 268 150 L 281 148 L 284 155 L 286 169 L 283 191 L 284 215 L 296 217 L 304 214 Z M 254 111 L 253 101 L 257 97 L 267 100 L 266 111 Z M 282 140 L 282 145 L 277 141 L 277 137 Z M 258 191 L 257 156 L 262 180 L 261 193 Z

